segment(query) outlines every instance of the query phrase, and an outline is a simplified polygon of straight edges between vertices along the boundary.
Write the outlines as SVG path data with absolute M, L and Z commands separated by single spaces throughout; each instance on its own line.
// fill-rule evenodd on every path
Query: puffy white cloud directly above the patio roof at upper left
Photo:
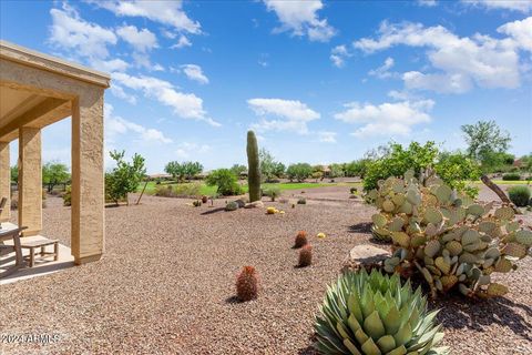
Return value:
M 116 44 L 116 36 L 110 29 L 81 19 L 68 3 L 61 9 L 51 9 L 52 26 L 49 41 L 52 45 L 75 52 L 89 59 L 104 59 L 108 45 Z

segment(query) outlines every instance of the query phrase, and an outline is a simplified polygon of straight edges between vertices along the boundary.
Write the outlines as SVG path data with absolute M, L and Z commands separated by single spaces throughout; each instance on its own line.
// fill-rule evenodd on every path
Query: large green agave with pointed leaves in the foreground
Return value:
M 316 316 L 321 354 L 448 354 L 427 300 L 397 274 L 348 272 L 330 285 Z

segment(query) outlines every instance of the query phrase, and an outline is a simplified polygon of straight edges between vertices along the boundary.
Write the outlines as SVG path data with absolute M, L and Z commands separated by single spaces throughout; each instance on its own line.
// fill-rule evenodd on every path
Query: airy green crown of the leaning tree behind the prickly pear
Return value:
M 495 154 L 507 152 L 512 140 L 510 134 L 501 130 L 495 121 L 464 124 L 461 130 L 466 143 L 468 143 L 468 155 L 480 162 L 484 172 L 493 169 L 494 163 L 497 164 L 493 162 Z

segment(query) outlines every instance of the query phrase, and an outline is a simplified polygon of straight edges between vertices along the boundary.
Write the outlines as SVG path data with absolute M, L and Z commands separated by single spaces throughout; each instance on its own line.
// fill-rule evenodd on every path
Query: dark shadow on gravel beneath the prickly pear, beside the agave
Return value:
M 532 342 L 530 335 L 532 324 L 515 313 L 515 308 L 522 308 L 532 315 L 532 310 L 526 305 L 516 304 L 504 297 L 467 301 L 459 295 L 450 295 L 448 298 L 438 300 L 436 306 L 441 308 L 438 320 L 444 327 L 483 332 L 484 326 L 494 323 L 509 327 L 513 333 Z

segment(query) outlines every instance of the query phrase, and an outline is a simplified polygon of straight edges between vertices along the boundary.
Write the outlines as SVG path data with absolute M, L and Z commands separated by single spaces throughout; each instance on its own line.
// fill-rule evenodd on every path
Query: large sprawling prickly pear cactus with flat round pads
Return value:
M 514 221 L 510 206 L 492 212 L 492 203 L 458 196 L 438 178 L 423 184 L 408 173 L 389 178 L 366 199 L 381 211 L 372 216 L 374 235 L 393 243 L 385 271 L 421 275 L 433 297 L 451 288 L 501 296 L 508 288 L 491 275 L 515 270 L 515 261 L 530 255 L 532 231 Z

